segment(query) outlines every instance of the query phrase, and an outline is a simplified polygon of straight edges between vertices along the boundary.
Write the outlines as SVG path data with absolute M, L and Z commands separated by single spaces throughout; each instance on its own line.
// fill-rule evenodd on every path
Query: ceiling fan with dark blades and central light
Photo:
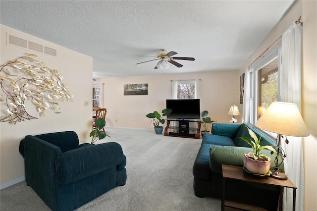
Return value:
M 177 67 L 182 67 L 183 65 L 174 61 L 173 59 L 180 59 L 180 60 L 190 60 L 190 61 L 195 61 L 195 58 L 193 57 L 175 57 L 173 55 L 177 54 L 176 52 L 166 52 L 166 49 L 161 49 L 160 52 L 157 53 L 157 58 L 156 59 L 152 59 L 152 60 L 148 60 L 148 61 L 154 61 L 154 60 L 159 60 L 159 63 L 154 67 L 154 69 L 158 69 L 159 67 L 162 69 L 166 69 L 168 64 L 167 62 L 174 64 Z M 142 55 L 140 55 L 142 56 Z M 172 57 L 173 56 L 173 57 Z M 155 56 L 153 56 L 155 57 Z M 142 64 L 148 61 L 143 61 L 140 63 L 136 63 L 136 64 Z

